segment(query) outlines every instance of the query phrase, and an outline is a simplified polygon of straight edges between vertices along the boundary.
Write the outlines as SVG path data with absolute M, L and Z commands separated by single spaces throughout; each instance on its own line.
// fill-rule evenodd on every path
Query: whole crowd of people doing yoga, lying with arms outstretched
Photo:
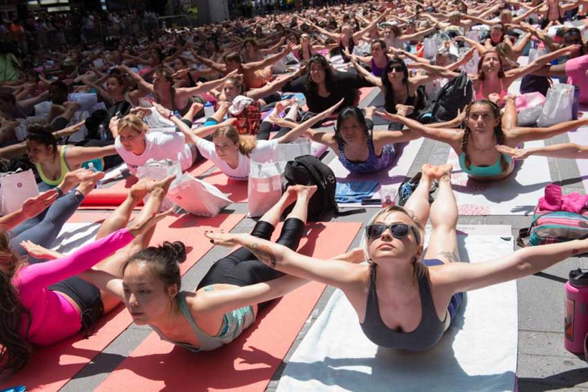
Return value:
M 90 245 L 69 255 L 48 248 L 102 171 L 125 164 L 136 175 L 150 159 L 179 160 L 183 171 L 210 160 L 228 178 L 247 181 L 250 162 L 304 137 L 370 178 L 394 165 L 398 143 L 429 138 L 449 144 L 470 178 L 493 182 L 532 154 L 586 158 L 587 147 L 576 144 L 517 148 L 588 118 L 521 126 L 509 88 L 522 80 L 524 93 L 545 95 L 552 79 L 562 80 L 588 104 L 587 10 L 583 1 L 366 1 L 1 55 L 0 170 L 33 169 L 44 191 L 0 217 L 3 368 L 26 366 L 33 345 L 91 333 L 120 302 L 162 339 L 209 351 L 230 344 L 268 301 L 308 281 L 340 288 L 374 343 L 434 346 L 463 292 L 548 268 L 586 252 L 588 240 L 461 263 L 454 168 L 425 164 L 403 207 L 365 223 L 362 248 L 327 261 L 296 252 L 318 189 L 293 185 L 250 234 L 208 232 L 215 245 L 240 248 L 214 263 L 196 290 L 181 291 L 185 245 L 150 244 L 155 225 L 172 214 L 160 210 L 173 176 L 140 179 Z M 529 50 L 536 55 L 527 62 Z M 450 118 L 431 121 L 431 108 L 457 80 L 471 93 Z M 380 89 L 379 105 L 358 108 L 365 87 Z M 255 111 L 268 115 L 255 127 L 239 122 L 240 113 Z M 154 118 L 172 129 L 154 126 Z M 330 120 L 334 132 L 322 127 Z

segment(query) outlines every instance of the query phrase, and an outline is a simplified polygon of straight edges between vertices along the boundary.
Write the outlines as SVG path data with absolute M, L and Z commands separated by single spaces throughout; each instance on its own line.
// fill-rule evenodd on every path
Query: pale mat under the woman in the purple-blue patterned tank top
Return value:
M 374 196 L 371 198 L 378 198 L 378 190 L 380 185 L 392 185 L 392 188 L 398 190 L 401 183 L 405 179 L 412 167 L 416 154 L 419 153 L 423 139 L 412 140 L 409 143 L 396 144 L 396 157 L 389 169 L 378 171 L 374 174 L 354 174 L 345 169 L 338 158 L 334 158 L 329 162 L 329 167 L 333 170 L 338 183 L 348 183 L 349 181 L 360 180 L 376 180 L 379 185 L 374 189 Z M 360 203 L 339 203 L 341 207 L 358 207 Z M 371 205 L 362 207 L 378 207 L 381 205 Z

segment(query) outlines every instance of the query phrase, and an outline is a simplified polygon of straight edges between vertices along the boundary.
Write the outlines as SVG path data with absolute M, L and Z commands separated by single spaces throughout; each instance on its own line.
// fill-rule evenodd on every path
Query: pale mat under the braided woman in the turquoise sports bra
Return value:
M 526 142 L 524 147 L 542 147 L 543 141 Z M 549 163 L 543 156 L 515 162 L 515 171 L 502 180 L 471 180 L 459 167 L 459 158 L 450 150 L 453 165 L 451 184 L 460 215 L 529 215 L 551 184 Z

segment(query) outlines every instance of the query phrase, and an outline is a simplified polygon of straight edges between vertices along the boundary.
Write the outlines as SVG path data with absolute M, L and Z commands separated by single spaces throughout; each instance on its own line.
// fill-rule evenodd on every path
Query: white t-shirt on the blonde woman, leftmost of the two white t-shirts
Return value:
M 136 155 L 131 151 L 125 150 L 120 142 L 120 137 L 114 142 L 116 152 L 120 158 L 125 161 L 131 174 L 136 174 L 137 167 L 145 166 L 147 160 L 178 160 L 180 154 L 180 165 L 182 170 L 187 170 L 192 166 L 194 158 L 190 145 L 186 144 L 183 133 L 177 132 L 157 132 L 151 131 L 145 135 L 145 151 L 141 155 Z

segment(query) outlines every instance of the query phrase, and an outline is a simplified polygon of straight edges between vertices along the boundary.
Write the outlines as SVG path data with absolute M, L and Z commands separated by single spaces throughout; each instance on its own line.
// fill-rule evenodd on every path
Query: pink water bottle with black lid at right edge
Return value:
M 588 270 L 572 270 L 565 284 L 564 346 L 575 354 L 584 353 L 588 333 Z

